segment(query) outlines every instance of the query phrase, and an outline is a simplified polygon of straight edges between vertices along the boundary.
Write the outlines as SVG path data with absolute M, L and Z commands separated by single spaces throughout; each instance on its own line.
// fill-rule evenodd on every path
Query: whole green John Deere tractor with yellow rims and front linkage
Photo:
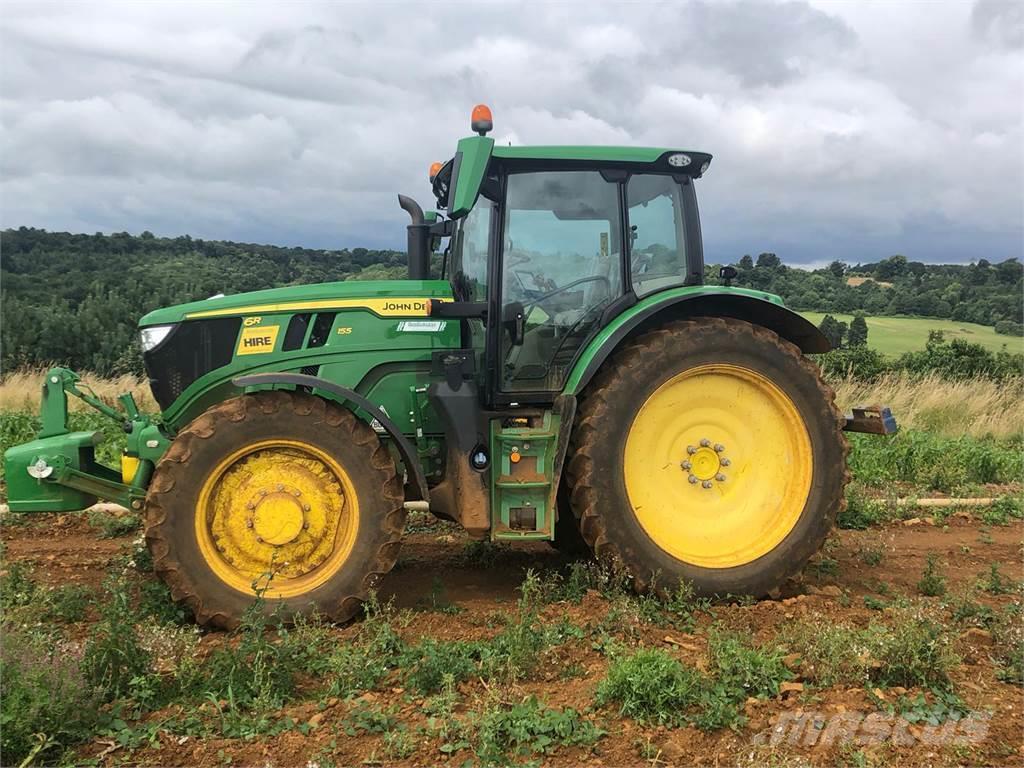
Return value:
M 778 296 L 728 267 L 705 285 L 711 156 L 499 146 L 482 105 L 472 127 L 431 169 L 436 211 L 399 196 L 408 280 L 146 314 L 159 420 L 50 371 L 38 438 L 5 453 L 11 510 L 139 510 L 174 599 L 227 628 L 257 590 L 350 618 L 410 509 L 589 549 L 637 589 L 763 595 L 799 570 L 845 504 L 843 430 L 895 423 L 837 411 L 804 356 L 828 342 Z M 69 394 L 123 425 L 120 468 L 69 430 Z

